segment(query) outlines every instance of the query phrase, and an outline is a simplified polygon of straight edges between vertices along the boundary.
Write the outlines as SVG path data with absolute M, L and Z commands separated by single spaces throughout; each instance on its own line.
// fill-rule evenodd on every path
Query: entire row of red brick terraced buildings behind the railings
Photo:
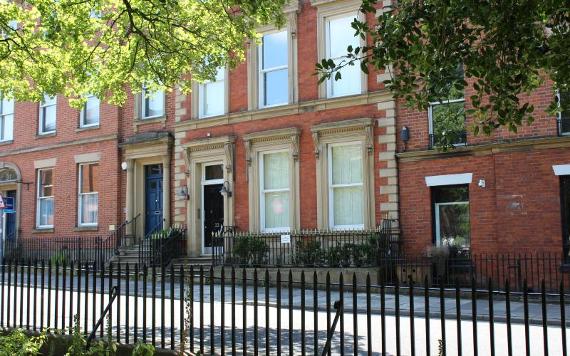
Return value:
M 220 226 L 368 229 L 388 216 L 413 254 L 442 243 L 562 252 L 570 125 L 545 113 L 551 88 L 530 97 L 532 126 L 474 137 L 462 97 L 411 111 L 380 84 L 386 74 L 357 67 L 319 84 L 315 63 L 359 44 L 359 5 L 291 2 L 285 27 L 259 29 L 243 64 L 189 95 L 131 95 L 121 108 L 90 98 L 81 112 L 63 97 L 3 101 L 0 193 L 16 202 L 3 237 L 106 236 L 135 220 L 142 238 L 176 223 L 198 256 Z M 432 149 L 450 110 L 463 120 L 457 147 Z

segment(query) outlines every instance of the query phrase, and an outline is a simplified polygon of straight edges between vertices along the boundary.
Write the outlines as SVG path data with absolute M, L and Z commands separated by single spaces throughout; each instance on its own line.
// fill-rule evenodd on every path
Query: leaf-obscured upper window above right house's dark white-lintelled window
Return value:
M 432 121 L 436 146 L 466 142 L 463 101 L 432 105 Z

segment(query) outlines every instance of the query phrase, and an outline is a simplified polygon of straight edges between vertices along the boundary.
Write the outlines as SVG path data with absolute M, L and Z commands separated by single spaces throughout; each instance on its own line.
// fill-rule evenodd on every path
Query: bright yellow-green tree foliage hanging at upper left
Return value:
M 86 94 L 124 103 L 127 89 L 190 89 L 244 59 L 285 0 L 0 0 L 0 91 L 39 101 Z

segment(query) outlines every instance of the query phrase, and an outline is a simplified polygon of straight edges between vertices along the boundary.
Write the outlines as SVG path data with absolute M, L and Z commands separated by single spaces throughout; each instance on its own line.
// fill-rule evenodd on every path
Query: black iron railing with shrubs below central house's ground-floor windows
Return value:
M 301 230 L 283 233 L 238 232 L 224 228 L 214 237 L 214 263 L 234 266 L 377 266 L 399 254 L 395 221 L 374 230 Z M 223 241 L 223 243 L 222 243 Z

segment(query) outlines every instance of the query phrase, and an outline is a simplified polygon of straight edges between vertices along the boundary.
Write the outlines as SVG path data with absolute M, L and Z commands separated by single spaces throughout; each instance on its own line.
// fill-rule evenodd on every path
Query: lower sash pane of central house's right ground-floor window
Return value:
M 334 188 L 334 225 L 362 225 L 362 198 L 362 186 Z

